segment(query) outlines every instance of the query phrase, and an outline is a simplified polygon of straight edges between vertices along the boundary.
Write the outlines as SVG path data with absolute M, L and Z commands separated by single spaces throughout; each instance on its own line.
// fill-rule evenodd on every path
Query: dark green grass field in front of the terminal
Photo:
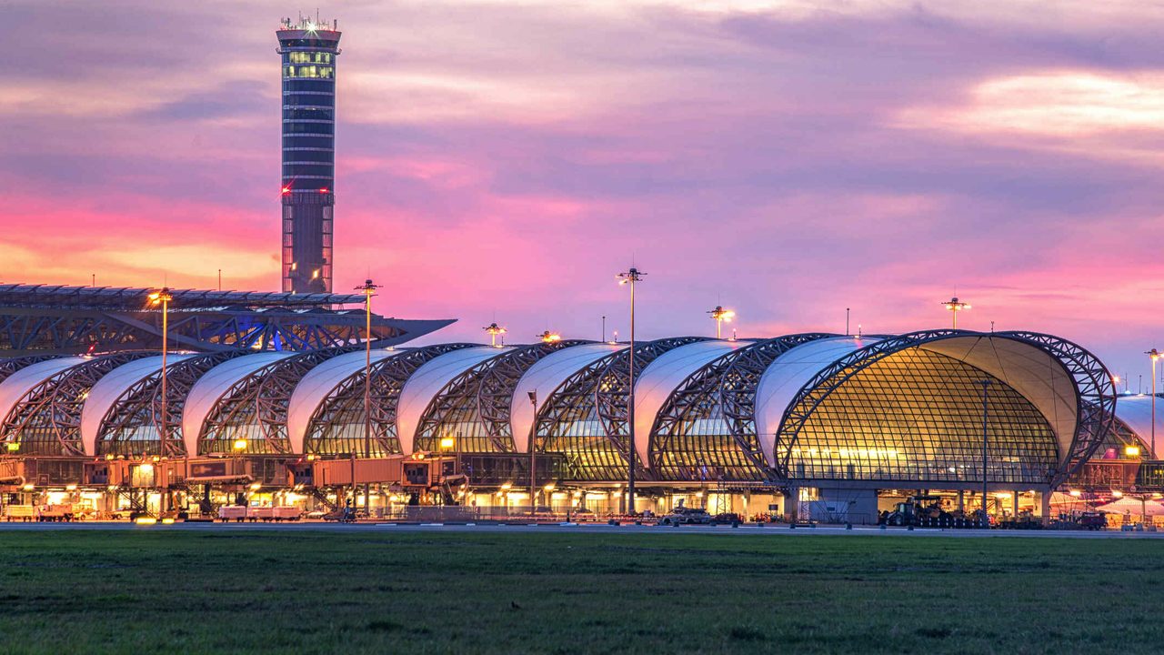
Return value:
M 0 534 L 3 653 L 1157 653 L 1155 541 Z

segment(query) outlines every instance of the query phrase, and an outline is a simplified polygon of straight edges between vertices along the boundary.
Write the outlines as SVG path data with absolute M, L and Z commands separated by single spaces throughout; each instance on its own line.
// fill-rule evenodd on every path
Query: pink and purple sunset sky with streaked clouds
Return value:
M 1164 8 L 321 5 L 335 287 L 430 340 L 949 325 L 1164 347 Z M 314 5 L 301 7 L 314 13 Z M 277 289 L 286 2 L 6 7 L 0 280 Z

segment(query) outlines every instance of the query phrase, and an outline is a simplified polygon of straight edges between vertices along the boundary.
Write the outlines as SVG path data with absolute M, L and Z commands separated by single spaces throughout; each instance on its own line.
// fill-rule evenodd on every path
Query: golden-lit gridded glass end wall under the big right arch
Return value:
M 809 415 L 788 452 L 803 479 L 982 479 L 1041 484 L 1057 465 L 1055 434 L 1027 399 L 988 373 L 922 348 L 894 353 L 842 383 Z M 786 451 L 787 452 L 787 451 Z

